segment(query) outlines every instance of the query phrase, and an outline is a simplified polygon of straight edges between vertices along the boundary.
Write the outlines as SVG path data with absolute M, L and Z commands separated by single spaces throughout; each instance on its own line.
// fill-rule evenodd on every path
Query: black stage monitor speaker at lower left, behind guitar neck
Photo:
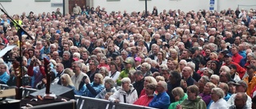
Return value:
M 58 85 L 58 84 L 54 84 L 54 85 L 50 85 L 50 92 L 57 95 L 57 96 L 62 96 L 62 97 L 66 97 L 69 99 L 74 99 L 74 91 L 72 88 L 67 88 L 65 86 L 62 85 Z M 46 88 L 42 88 L 42 90 L 39 91 L 35 91 L 34 93 L 31 93 L 30 95 L 32 96 L 37 96 L 37 95 L 45 95 L 46 93 Z

